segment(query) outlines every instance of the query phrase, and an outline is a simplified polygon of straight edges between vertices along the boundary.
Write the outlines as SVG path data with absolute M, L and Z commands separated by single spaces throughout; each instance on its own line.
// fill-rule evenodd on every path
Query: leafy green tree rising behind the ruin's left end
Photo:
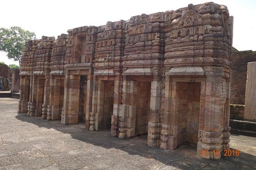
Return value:
M 19 26 L 0 28 L 0 51 L 7 52 L 9 59 L 20 63 L 25 43 L 34 38 L 34 32 L 25 31 Z

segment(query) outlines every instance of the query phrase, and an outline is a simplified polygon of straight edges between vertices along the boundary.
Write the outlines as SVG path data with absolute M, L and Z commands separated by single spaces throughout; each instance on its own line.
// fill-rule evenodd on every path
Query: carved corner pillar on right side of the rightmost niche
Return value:
M 207 159 L 220 159 L 221 155 L 214 155 L 213 150 L 222 152 L 222 119 L 224 114 L 224 104 L 222 104 L 223 72 L 222 68 L 219 67 L 207 67 L 205 70 L 204 129 L 199 130 L 197 155 Z M 202 154 L 202 150 L 207 150 L 209 154 Z

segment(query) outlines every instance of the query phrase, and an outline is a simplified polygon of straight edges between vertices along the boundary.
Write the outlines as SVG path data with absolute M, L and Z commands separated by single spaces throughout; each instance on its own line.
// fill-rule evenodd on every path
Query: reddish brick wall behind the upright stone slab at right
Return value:
M 256 61 L 256 51 L 237 51 L 236 49 L 233 49 L 232 59 L 230 103 L 244 105 L 247 63 Z

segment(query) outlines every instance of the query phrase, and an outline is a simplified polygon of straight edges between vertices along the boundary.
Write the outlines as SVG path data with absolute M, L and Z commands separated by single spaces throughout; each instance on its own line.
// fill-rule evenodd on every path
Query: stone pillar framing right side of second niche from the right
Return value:
M 160 145 L 161 77 L 154 76 L 151 82 L 150 115 L 148 122 L 148 146 Z

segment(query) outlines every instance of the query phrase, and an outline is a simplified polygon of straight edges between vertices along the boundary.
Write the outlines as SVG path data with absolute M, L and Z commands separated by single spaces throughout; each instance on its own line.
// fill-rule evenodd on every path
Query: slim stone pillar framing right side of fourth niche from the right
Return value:
M 86 115 L 85 115 L 85 129 L 90 128 L 90 113 L 92 112 L 92 98 L 93 98 L 93 75 L 87 76 L 87 99 L 86 99 Z

